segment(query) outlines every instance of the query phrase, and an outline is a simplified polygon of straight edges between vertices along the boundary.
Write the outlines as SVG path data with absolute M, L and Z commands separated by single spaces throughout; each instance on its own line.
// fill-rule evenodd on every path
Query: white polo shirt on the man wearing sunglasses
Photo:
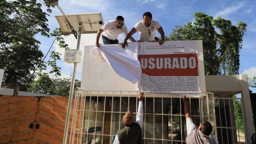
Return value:
M 104 31 L 102 35 L 111 40 L 117 39 L 118 35 L 122 34 L 123 32 L 125 33 L 125 35 L 128 34 L 127 26 L 123 25 L 123 28 L 119 29 L 116 27 L 115 21 L 116 20 L 110 20 L 101 27 Z

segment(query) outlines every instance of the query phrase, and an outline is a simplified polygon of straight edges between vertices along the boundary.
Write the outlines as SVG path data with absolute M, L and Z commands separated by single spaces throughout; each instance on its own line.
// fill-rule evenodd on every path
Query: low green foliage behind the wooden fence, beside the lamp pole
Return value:
M 68 78 L 50 78 L 48 74 L 42 74 L 34 81 L 28 91 L 49 95 L 69 96 L 71 76 Z M 81 81 L 75 80 L 74 92 L 80 89 Z

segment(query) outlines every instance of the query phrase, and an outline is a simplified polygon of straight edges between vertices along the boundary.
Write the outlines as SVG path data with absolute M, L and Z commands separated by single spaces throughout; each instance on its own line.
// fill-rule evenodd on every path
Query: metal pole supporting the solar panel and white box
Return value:
M 79 24 L 79 30 L 78 30 L 79 34 L 78 34 L 76 49 L 79 49 L 79 46 L 80 46 L 81 31 L 82 31 L 82 25 Z M 74 93 L 74 86 L 75 86 L 75 79 L 76 79 L 76 68 L 77 68 L 77 63 L 74 63 L 74 69 L 73 69 L 73 73 L 72 73 L 72 80 L 71 80 L 70 93 L 69 93 L 69 99 L 68 99 L 68 110 L 67 110 L 67 117 L 66 117 L 66 123 L 65 123 L 63 144 L 67 143 L 69 118 L 70 118 L 70 111 L 71 111 L 71 105 L 72 105 L 72 99 L 73 99 L 73 93 Z

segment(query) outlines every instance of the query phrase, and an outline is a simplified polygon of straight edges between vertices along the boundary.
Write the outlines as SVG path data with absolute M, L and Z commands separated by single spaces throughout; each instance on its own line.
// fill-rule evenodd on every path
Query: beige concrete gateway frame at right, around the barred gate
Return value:
M 247 75 L 205 76 L 206 91 L 213 92 L 216 97 L 230 97 L 241 93 L 244 114 L 244 128 L 246 143 L 251 143 L 254 133 L 252 109 Z

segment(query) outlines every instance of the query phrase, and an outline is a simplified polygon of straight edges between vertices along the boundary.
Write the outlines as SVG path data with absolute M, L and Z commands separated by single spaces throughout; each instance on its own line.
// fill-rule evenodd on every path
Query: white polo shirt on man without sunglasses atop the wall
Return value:
M 150 42 L 150 37 L 155 38 L 156 36 L 156 30 L 161 27 L 160 23 L 156 20 L 151 20 L 151 24 L 149 27 L 147 27 L 144 23 L 143 20 L 139 21 L 135 24 L 134 28 L 137 31 L 140 31 L 140 40 L 144 42 Z M 150 35 L 149 35 L 150 31 Z

